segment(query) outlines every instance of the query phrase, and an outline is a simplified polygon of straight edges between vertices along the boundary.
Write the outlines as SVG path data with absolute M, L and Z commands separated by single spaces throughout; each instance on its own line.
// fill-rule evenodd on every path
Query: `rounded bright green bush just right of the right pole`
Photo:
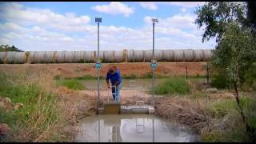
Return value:
M 190 87 L 186 78 L 168 78 L 155 87 L 155 94 L 189 94 Z

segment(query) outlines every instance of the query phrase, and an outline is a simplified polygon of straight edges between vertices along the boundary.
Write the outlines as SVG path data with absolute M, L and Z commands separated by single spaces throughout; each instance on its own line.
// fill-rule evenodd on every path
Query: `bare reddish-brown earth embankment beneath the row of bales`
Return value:
M 105 76 L 108 66 L 115 65 L 121 70 L 122 76 L 125 77 L 145 77 L 151 74 L 150 62 L 128 62 L 128 63 L 103 63 L 101 75 Z M 157 75 L 161 76 L 186 76 L 186 66 L 188 68 L 188 76 L 206 76 L 206 70 L 202 66 L 206 62 L 158 62 L 156 70 Z M 69 64 L 1 64 L 0 70 L 17 71 L 17 70 L 54 70 L 54 75 L 65 78 L 96 76 L 94 63 L 69 63 Z

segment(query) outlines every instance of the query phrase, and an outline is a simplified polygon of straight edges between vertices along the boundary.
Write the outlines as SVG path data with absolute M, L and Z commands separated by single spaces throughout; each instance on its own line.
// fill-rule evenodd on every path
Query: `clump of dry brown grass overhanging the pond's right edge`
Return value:
M 204 110 L 202 102 L 191 102 L 188 98 L 158 98 L 156 100 L 156 114 L 191 126 L 200 132 L 209 125 L 210 118 Z

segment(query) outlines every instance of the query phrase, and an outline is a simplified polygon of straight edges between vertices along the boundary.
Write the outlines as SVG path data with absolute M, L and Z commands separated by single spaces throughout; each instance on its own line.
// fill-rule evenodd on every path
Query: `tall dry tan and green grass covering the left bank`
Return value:
M 58 88 L 54 83 L 54 70 L 40 67 L 34 70 L 26 65 L 11 70 L 0 67 L 0 72 L 17 89 L 24 86 L 30 90 L 30 86 L 38 86 L 38 93 L 34 95 L 38 98 L 30 98 L 35 103 L 26 100 L 24 109 L 17 111 L 18 120 L 12 127 L 10 141 L 73 141 L 76 131 L 72 125 L 90 112 L 94 113 L 94 98 L 88 98 L 73 90 L 63 90 L 63 87 Z

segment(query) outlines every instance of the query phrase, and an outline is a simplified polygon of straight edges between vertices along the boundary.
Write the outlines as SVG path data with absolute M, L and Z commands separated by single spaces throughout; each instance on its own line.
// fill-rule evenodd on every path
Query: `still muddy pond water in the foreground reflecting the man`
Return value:
M 78 125 L 76 142 L 195 142 L 186 126 L 153 114 L 102 114 Z

